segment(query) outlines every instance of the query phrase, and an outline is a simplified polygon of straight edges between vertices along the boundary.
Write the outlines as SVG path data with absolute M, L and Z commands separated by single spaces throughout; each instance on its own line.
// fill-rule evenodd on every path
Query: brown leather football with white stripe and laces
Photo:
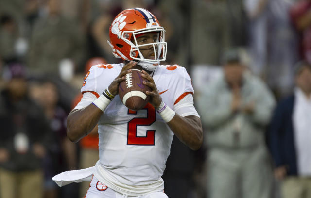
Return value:
M 134 111 L 142 109 L 149 101 L 150 96 L 146 91 L 151 91 L 150 87 L 142 82 L 147 81 L 141 76 L 142 72 L 139 69 L 125 75 L 125 80 L 119 84 L 119 97 L 123 104 Z

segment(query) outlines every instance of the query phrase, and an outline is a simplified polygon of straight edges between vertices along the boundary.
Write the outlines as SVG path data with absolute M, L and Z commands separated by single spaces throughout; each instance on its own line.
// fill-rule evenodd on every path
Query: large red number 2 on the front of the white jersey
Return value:
M 147 110 L 147 117 L 135 117 L 127 123 L 127 144 L 128 145 L 155 145 L 155 130 L 146 130 L 146 136 L 137 136 L 138 126 L 150 126 L 155 122 L 155 108 L 147 104 L 143 109 Z M 128 109 L 127 114 L 137 114 Z

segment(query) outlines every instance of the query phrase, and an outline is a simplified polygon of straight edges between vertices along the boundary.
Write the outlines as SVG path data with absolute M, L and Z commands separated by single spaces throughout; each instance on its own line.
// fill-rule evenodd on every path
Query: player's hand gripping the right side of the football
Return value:
M 150 103 L 155 108 L 158 108 L 162 102 L 162 98 L 155 86 L 154 79 L 145 70 L 142 70 L 142 73 L 143 74 L 141 76 L 149 81 L 149 82 L 144 81 L 142 83 L 151 88 L 151 91 L 146 91 L 146 94 L 150 96 Z

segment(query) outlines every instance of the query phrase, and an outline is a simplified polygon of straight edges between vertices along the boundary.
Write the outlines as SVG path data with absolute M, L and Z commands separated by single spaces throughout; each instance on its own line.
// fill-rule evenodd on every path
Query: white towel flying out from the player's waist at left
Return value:
M 72 182 L 82 182 L 82 181 L 91 181 L 94 173 L 95 167 L 89 167 L 81 170 L 69 170 L 62 172 L 58 175 L 52 177 L 52 180 L 57 183 L 59 187 L 67 185 Z

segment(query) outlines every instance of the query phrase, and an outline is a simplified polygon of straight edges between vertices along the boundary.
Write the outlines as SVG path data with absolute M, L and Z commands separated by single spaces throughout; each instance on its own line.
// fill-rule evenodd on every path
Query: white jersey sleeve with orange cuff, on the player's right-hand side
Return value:
M 185 67 L 178 66 L 174 72 L 174 84 L 176 86 L 173 100 L 174 105 L 177 104 L 188 94 L 194 94 L 194 89 L 191 84 L 191 78 L 187 73 Z

